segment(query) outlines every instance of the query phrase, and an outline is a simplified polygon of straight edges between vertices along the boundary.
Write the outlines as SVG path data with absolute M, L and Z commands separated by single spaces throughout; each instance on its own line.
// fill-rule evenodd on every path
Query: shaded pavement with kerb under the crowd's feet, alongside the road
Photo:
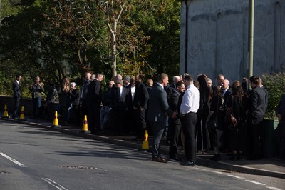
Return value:
M 1 114 L 1 113 L 0 113 Z M 1 114 L 3 115 L 3 114 Z M 88 134 L 84 132 L 82 126 L 69 125 L 69 126 L 61 126 L 61 127 L 52 127 L 53 121 L 47 121 L 44 119 L 10 119 L 10 118 L 2 118 L 6 121 L 11 122 L 19 122 L 21 124 L 27 124 L 32 126 L 38 126 L 42 128 L 46 128 L 48 130 L 60 131 L 63 134 L 71 134 L 74 136 L 81 136 L 86 139 L 94 139 L 98 141 L 103 141 L 110 144 L 117 144 L 120 146 L 125 146 L 128 148 L 138 149 L 140 151 L 150 151 L 142 150 L 142 141 L 134 141 L 135 136 L 110 136 L 108 134 Z M 152 138 L 149 138 L 149 144 L 152 144 Z M 169 146 L 166 145 L 165 139 L 161 141 L 161 154 L 168 155 Z M 177 157 L 182 158 L 185 155 L 183 150 L 179 150 L 177 152 Z M 227 171 L 235 171 L 247 174 L 261 175 L 261 176 L 271 176 L 277 177 L 281 179 L 285 179 L 285 160 L 275 160 L 273 158 L 264 158 L 260 160 L 242 160 L 242 161 L 231 161 L 229 160 L 228 153 L 222 153 L 221 161 L 211 161 L 210 158 L 214 156 L 213 152 L 210 153 L 197 153 L 197 165 L 209 166 L 212 168 L 223 169 Z M 166 159 L 167 156 L 165 156 Z M 151 159 L 151 156 L 150 156 Z

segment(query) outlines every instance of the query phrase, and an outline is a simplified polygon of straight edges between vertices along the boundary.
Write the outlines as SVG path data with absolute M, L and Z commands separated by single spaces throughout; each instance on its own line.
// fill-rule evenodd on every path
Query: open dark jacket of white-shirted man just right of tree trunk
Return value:
M 128 108 L 129 104 L 129 89 L 125 88 L 124 86 L 122 87 L 122 94 L 119 95 L 119 88 L 115 88 L 112 91 L 111 95 L 111 107 L 112 109 L 120 109 L 120 110 L 125 110 Z

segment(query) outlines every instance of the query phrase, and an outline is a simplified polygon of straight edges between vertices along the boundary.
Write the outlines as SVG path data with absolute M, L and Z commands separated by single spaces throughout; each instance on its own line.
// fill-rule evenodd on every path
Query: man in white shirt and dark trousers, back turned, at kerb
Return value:
M 194 166 L 196 161 L 196 136 L 195 125 L 197 122 L 197 111 L 199 109 L 200 92 L 193 84 L 193 77 L 186 75 L 183 82 L 187 88 L 180 106 L 180 116 L 183 133 L 185 135 L 186 160 L 181 161 L 183 166 Z

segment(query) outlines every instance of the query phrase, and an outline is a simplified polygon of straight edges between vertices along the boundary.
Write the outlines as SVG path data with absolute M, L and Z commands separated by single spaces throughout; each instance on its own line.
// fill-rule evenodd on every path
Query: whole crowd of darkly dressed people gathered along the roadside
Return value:
M 214 151 L 213 161 L 221 160 L 220 152 L 231 152 L 231 160 L 261 159 L 262 124 L 268 102 L 268 91 L 262 86 L 259 76 L 234 81 L 232 85 L 224 75 L 217 76 L 217 85 L 212 79 L 200 74 L 194 79 L 190 74 L 174 76 L 169 84 L 167 74 L 159 74 L 157 83 L 145 80 L 142 75 L 118 74 L 108 83 L 103 94 L 103 74 L 86 72 L 81 89 L 64 78 L 56 89 L 53 81 L 41 100 L 43 84 L 37 76 L 30 86 L 33 99 L 33 117 L 43 112 L 53 117 L 61 115 L 61 125 L 72 119 L 81 123 L 87 116 L 88 129 L 93 134 L 135 134 L 135 141 L 143 141 L 145 130 L 152 136 L 152 161 L 167 163 L 160 156 L 160 141 L 165 135 L 169 142 L 170 159 L 177 158 L 177 147 L 185 150 L 185 160 L 180 164 L 194 166 L 199 151 Z M 19 109 L 21 76 L 13 84 L 15 110 Z M 143 81 L 146 81 L 144 84 Z M 230 88 L 231 86 L 231 88 Z M 58 97 L 59 103 L 54 107 Z M 43 102 L 43 104 L 41 104 Z M 278 144 L 284 144 L 285 96 L 276 109 L 279 118 Z M 73 121 L 74 121 L 73 120 Z M 284 146 L 279 146 L 279 159 L 285 159 Z

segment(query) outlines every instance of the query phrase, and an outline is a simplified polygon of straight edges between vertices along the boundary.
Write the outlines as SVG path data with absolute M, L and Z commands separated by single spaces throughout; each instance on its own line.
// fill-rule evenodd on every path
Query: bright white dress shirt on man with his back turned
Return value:
M 188 114 L 190 112 L 197 113 L 200 106 L 200 92 L 194 86 L 194 84 L 190 84 L 187 87 L 183 97 L 182 103 L 180 106 L 180 113 L 181 114 Z

